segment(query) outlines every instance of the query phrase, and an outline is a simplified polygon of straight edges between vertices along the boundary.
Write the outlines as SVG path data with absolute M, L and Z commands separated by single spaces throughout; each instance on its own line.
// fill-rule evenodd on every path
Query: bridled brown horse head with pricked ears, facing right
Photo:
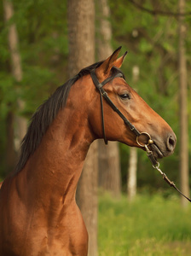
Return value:
M 150 139 L 148 147 L 155 158 L 168 156 L 174 152 L 176 135 L 125 81 L 119 68 L 126 53 L 118 58 L 120 49 L 91 73 L 97 95 L 89 106 L 91 127 L 96 137 L 104 137 L 106 142 L 108 139 L 145 149 Z

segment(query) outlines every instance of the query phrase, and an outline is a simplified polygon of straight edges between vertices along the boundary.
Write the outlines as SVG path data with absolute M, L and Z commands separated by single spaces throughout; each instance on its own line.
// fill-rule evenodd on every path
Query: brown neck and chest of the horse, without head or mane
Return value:
M 83 87 L 77 88 L 72 95 L 83 94 Z M 85 110 L 72 114 L 72 105 L 68 101 L 58 113 L 22 172 L 3 183 L 0 219 L 7 224 L 0 230 L 2 256 L 87 254 L 88 236 L 75 191 L 93 137 L 83 124 Z

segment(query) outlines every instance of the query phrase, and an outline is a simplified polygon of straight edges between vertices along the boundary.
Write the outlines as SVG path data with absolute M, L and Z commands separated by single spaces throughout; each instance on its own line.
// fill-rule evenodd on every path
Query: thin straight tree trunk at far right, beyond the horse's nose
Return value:
M 185 0 L 179 0 L 178 10 L 185 11 Z M 185 49 L 186 27 L 183 15 L 178 19 L 178 63 L 179 63 L 179 87 L 180 87 L 180 175 L 181 190 L 184 195 L 189 196 L 188 177 L 188 106 L 187 106 L 187 63 Z M 188 201 L 182 197 L 182 207 L 188 205 Z

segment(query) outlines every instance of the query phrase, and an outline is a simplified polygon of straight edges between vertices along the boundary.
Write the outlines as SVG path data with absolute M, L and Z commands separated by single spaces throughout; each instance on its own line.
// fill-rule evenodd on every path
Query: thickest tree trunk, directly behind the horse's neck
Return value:
M 93 0 L 68 0 L 69 61 L 72 77 L 95 62 L 95 7 Z M 97 255 L 97 143 L 87 155 L 78 183 L 77 202 L 89 233 L 89 255 Z

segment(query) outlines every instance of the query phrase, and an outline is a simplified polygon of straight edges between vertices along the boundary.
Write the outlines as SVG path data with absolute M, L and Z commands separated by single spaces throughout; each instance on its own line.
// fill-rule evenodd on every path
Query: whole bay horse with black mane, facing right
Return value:
M 174 132 L 126 83 L 119 70 L 126 53 L 118 58 L 120 49 L 82 69 L 32 116 L 20 160 L 0 189 L 1 256 L 87 255 L 88 234 L 75 193 L 94 140 L 142 148 L 148 138 L 140 137 L 138 144 L 134 131 L 148 132 L 156 158 L 173 153 Z M 116 109 L 102 99 L 104 93 Z

